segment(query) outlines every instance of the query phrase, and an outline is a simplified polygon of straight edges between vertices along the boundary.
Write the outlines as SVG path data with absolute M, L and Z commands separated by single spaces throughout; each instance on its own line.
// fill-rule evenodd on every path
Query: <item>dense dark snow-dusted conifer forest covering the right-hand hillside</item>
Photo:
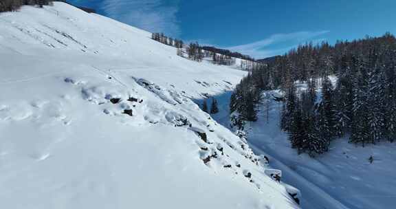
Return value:
M 336 76 L 331 83 L 329 76 Z M 303 83 L 306 88 L 296 87 Z M 314 156 L 331 140 L 355 144 L 396 140 L 396 39 L 392 34 L 336 45 L 301 45 L 242 80 L 230 102 L 256 120 L 263 90 L 282 89 L 281 128 L 292 147 Z

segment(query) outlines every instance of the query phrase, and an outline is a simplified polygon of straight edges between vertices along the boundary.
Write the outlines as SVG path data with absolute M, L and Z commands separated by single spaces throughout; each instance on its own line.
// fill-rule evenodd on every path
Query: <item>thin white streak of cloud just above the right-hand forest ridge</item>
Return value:
M 318 40 L 324 41 L 325 39 L 312 40 L 322 34 L 327 34 L 329 31 L 323 30 L 318 32 L 294 32 L 290 34 L 274 34 L 267 39 L 256 41 L 254 43 L 248 43 L 244 45 L 237 45 L 234 47 L 227 47 L 228 50 L 240 52 L 241 54 L 248 54 L 254 58 L 265 58 L 283 54 L 288 50 L 300 43 L 307 41 L 317 42 Z M 287 43 L 287 47 L 274 49 L 273 45 L 278 43 Z

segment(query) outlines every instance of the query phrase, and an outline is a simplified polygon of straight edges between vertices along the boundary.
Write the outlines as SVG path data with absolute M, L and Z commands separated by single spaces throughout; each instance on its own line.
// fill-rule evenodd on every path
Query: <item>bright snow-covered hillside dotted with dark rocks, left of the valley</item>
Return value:
M 64 3 L 0 14 L 1 208 L 298 208 L 191 98 L 245 72 Z

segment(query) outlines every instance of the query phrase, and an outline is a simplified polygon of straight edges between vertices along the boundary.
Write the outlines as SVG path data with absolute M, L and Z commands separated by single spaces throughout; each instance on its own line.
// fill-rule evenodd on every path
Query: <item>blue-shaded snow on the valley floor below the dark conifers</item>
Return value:
M 334 78 L 331 80 L 335 82 Z M 297 86 L 304 89 L 306 85 Z M 267 91 L 263 98 L 266 95 L 281 96 L 279 91 Z M 228 101 L 221 99 L 225 97 L 218 99 L 219 107 L 225 107 L 221 111 L 228 111 L 224 104 Z M 282 181 L 301 190 L 302 208 L 394 208 L 396 144 L 361 147 L 344 138 L 331 142 L 330 151 L 316 158 L 298 155 L 291 148 L 287 133 L 279 128 L 281 102 L 270 100 L 269 120 L 265 100 L 263 103 L 259 120 L 246 126 L 248 142 L 256 155 L 268 156 L 270 166 L 283 171 Z M 224 126 L 229 123 L 225 118 L 221 120 L 219 123 Z M 373 163 L 369 161 L 371 155 Z

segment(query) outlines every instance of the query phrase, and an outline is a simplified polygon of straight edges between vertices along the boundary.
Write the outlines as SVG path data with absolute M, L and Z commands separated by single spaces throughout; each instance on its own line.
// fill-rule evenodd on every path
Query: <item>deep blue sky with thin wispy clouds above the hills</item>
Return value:
M 396 0 L 72 0 L 151 32 L 255 58 L 300 43 L 396 34 Z

